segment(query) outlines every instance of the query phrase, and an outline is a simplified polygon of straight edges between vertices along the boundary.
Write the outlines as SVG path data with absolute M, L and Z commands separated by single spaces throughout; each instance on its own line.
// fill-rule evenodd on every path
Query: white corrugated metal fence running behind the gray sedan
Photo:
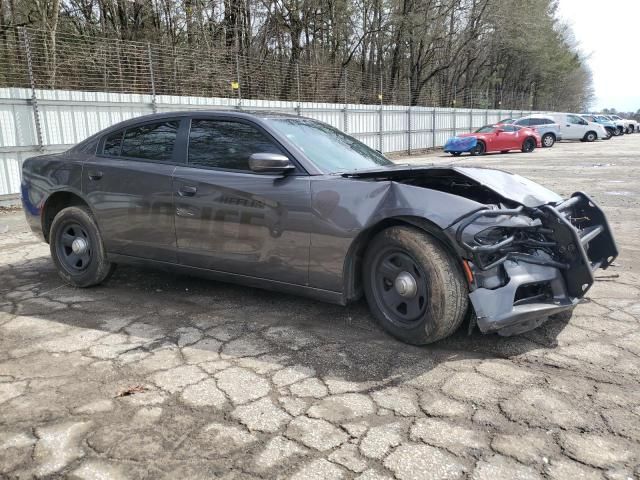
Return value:
M 399 105 L 297 103 L 122 93 L 0 88 L 0 195 L 20 191 L 21 163 L 60 152 L 114 123 L 147 113 L 226 108 L 276 110 L 329 123 L 382 152 L 414 153 L 505 117 L 530 112 Z

